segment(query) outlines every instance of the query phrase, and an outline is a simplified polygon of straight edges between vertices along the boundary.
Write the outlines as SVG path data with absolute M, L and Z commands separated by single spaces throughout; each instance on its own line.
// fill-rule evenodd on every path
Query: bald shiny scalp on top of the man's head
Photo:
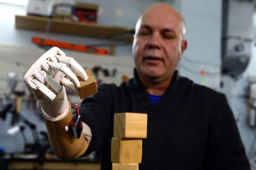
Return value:
M 141 16 L 139 16 L 139 19 L 137 21 L 137 24 L 135 27 L 136 32 L 139 30 L 142 19 L 148 15 L 154 15 L 155 17 L 159 17 L 159 20 L 162 20 L 162 22 L 173 22 L 174 20 L 166 19 L 166 18 L 168 18 L 168 16 L 172 16 L 172 18 L 175 18 L 175 22 L 177 22 L 174 24 L 179 24 L 181 36 L 182 36 L 182 38 L 184 38 L 186 29 L 185 29 L 185 21 L 184 21 L 183 17 L 176 9 L 174 9 L 174 7 L 172 7 L 166 3 L 158 3 L 156 5 L 152 5 L 152 6 L 148 7 L 148 9 L 144 10 L 143 13 L 141 14 Z M 163 17 L 163 16 L 166 16 L 166 17 Z

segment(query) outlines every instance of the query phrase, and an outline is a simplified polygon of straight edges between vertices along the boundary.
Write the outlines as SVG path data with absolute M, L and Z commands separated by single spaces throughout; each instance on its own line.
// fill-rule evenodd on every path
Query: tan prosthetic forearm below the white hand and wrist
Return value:
M 76 139 L 72 131 L 65 131 L 65 126 L 72 121 L 73 117 L 71 104 L 68 102 L 67 108 L 57 117 L 49 117 L 42 107 L 40 110 L 42 111 L 49 142 L 55 155 L 60 159 L 71 159 L 84 154 L 88 148 L 84 133 L 81 134 L 79 139 Z

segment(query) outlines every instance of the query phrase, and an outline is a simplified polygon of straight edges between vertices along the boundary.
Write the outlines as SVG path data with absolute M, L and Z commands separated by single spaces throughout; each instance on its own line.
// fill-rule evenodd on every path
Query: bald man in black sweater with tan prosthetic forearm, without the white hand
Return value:
M 250 169 L 225 96 L 175 71 L 187 48 L 184 34 L 184 20 L 171 6 L 161 3 L 143 12 L 133 42 L 134 78 L 119 87 L 102 84 L 97 94 L 82 101 L 84 133 L 75 145 L 60 127 L 71 114 L 63 106 L 69 106 L 64 89 L 55 101 L 42 100 L 55 154 L 68 158 L 101 150 L 101 169 L 112 169 L 114 113 L 147 113 L 139 169 Z

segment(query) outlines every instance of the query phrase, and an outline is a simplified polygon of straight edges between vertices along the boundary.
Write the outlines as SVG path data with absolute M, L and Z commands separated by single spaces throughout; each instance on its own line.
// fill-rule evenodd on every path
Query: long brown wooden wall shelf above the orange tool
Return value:
M 61 19 L 46 18 L 42 16 L 15 15 L 15 27 L 27 30 L 56 32 L 77 36 L 88 36 L 110 40 L 131 42 L 134 29 L 102 26 L 82 22 L 69 22 Z

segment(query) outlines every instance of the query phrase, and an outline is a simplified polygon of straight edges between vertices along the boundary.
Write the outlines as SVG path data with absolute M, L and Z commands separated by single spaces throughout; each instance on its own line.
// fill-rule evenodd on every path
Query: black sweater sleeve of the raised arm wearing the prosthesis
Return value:
M 112 88 L 113 84 L 101 84 L 98 93 L 85 98 L 80 106 L 82 122 L 92 130 L 92 140 L 84 155 L 102 149 L 104 139 L 110 134 L 110 121 L 112 121 Z

